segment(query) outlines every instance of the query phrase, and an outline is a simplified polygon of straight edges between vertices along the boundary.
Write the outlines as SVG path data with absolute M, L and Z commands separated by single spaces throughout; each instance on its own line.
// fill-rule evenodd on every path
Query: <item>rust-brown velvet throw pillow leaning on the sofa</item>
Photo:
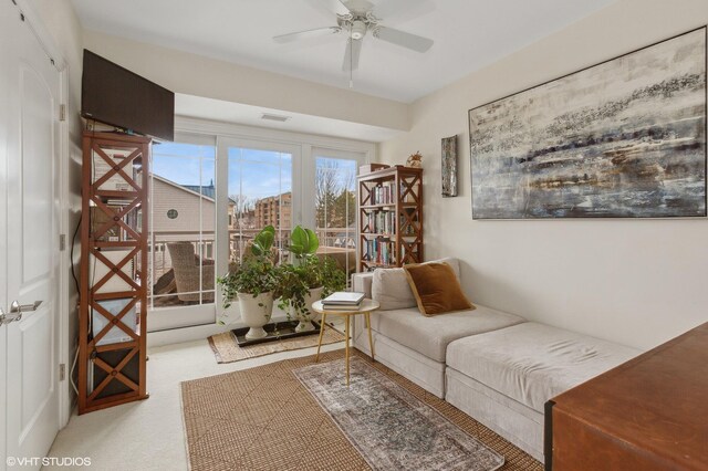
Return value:
M 447 263 L 404 265 L 408 284 L 423 315 L 473 310 L 455 272 Z

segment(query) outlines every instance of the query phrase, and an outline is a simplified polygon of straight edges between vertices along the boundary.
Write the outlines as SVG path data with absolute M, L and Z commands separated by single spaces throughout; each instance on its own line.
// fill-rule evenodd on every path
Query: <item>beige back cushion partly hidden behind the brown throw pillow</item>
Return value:
M 460 264 L 457 259 L 440 259 L 426 263 L 445 262 L 455 275 L 460 278 Z M 410 291 L 406 272 L 403 269 L 376 269 L 372 282 L 372 300 L 378 301 L 381 311 L 416 307 L 416 299 Z

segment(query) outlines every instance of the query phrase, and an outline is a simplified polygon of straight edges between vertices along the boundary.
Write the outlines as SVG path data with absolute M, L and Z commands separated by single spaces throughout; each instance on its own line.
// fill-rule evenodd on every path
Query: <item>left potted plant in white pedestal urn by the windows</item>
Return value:
M 263 228 L 241 263 L 217 280 L 221 286 L 223 308 L 228 308 L 236 299 L 239 301 L 241 318 L 250 327 L 246 338 L 268 335 L 263 326 L 270 322 L 280 279 L 271 257 L 274 239 L 275 229 L 272 226 Z

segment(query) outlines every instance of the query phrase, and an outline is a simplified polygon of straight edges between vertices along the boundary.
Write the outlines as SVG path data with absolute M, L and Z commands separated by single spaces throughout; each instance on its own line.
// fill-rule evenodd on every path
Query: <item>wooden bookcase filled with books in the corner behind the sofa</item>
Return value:
M 423 169 L 360 175 L 358 271 L 423 262 Z

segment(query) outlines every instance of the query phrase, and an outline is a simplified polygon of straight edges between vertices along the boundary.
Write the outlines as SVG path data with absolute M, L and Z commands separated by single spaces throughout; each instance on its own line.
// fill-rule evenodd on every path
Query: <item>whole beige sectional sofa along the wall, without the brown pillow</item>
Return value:
M 442 261 L 459 276 L 456 259 Z M 426 317 L 403 269 L 357 273 L 353 281 L 382 304 L 371 317 L 376 360 L 540 461 L 544 404 L 641 353 L 480 305 Z M 371 354 L 358 318 L 354 345 Z

